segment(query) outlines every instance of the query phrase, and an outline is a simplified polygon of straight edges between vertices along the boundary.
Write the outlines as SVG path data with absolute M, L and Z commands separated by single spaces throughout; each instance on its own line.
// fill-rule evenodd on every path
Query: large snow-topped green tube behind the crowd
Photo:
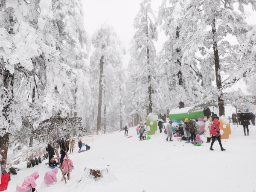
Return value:
M 181 109 L 173 109 L 172 111 L 170 111 L 169 113 L 169 119 L 174 121 L 174 120 L 178 120 L 178 121 L 184 121 L 185 118 L 194 118 L 194 119 L 198 119 L 198 117 L 204 118 L 204 116 L 209 116 L 210 110 L 209 108 L 207 109 L 202 109 L 202 110 L 198 110 L 198 111 L 193 111 L 190 112 L 188 114 L 189 109 L 192 109 L 193 107 L 187 107 L 187 108 L 181 108 Z M 204 114 L 206 113 L 207 114 Z M 209 114 L 208 114 L 209 113 Z

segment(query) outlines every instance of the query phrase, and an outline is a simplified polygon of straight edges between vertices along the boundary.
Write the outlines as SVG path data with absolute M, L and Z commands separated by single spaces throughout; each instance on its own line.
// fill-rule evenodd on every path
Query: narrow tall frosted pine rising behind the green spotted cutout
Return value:
M 156 50 L 154 41 L 157 41 L 157 27 L 155 16 L 151 8 L 151 0 L 143 0 L 140 10 L 134 18 L 134 44 L 131 47 L 130 78 L 134 87 L 130 92 L 134 93 L 136 102 L 133 109 L 142 112 L 143 115 L 151 113 L 154 99 L 160 98 L 158 94 L 157 66 L 154 63 Z M 137 72 L 136 72 L 137 71 Z M 135 76 L 132 72 L 136 72 Z M 155 106 L 155 105 L 154 105 Z

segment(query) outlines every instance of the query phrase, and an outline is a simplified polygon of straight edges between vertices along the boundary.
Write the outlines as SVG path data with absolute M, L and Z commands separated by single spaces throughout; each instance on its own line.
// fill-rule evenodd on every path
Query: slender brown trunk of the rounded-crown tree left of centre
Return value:
M 97 133 L 101 130 L 101 108 L 102 108 L 102 89 L 103 89 L 102 74 L 103 74 L 103 65 L 104 65 L 103 59 L 104 59 L 104 56 L 102 55 L 99 62 L 100 71 L 99 71 L 99 101 L 98 101 L 98 116 L 97 116 Z

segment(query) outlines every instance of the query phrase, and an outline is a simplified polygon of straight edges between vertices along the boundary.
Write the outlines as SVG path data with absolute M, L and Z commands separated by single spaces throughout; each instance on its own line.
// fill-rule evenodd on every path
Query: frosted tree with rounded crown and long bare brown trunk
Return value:
M 107 68 L 114 69 L 120 66 L 122 55 L 125 53 L 119 38 L 114 31 L 114 28 L 109 23 L 105 22 L 97 29 L 91 38 L 95 50 L 90 58 L 91 68 L 93 73 L 99 78 L 99 98 L 98 98 L 98 113 L 97 113 L 97 132 L 101 130 L 101 113 L 102 113 L 102 95 L 103 90 L 105 95 L 108 89 L 105 89 L 104 84 L 111 75 L 106 75 Z M 96 79 L 93 79 L 95 81 Z M 113 93 L 109 93 L 113 94 Z M 106 105 L 106 103 L 105 103 Z

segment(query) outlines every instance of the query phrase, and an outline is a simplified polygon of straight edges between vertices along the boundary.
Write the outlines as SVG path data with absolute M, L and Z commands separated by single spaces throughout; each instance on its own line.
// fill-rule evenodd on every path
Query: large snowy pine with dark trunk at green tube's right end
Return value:
M 234 10 L 233 3 L 239 3 L 239 11 Z M 186 6 L 186 14 L 183 17 L 184 37 L 182 63 L 194 60 L 198 52 L 204 57 L 205 71 L 215 69 L 216 88 L 220 116 L 225 114 L 223 90 L 236 83 L 236 70 L 239 62 L 236 60 L 238 45 L 231 45 L 226 39 L 227 35 L 233 35 L 241 44 L 247 32 L 248 25 L 244 20 L 243 6 L 248 2 L 233 0 L 190 0 Z M 211 74 L 211 73 L 208 73 Z M 223 81 L 223 74 L 229 76 Z M 235 75 L 234 75 L 235 74 Z M 212 79 L 204 77 L 203 79 Z M 208 80 L 208 81 L 209 81 Z M 209 89 L 206 90 L 206 93 Z

